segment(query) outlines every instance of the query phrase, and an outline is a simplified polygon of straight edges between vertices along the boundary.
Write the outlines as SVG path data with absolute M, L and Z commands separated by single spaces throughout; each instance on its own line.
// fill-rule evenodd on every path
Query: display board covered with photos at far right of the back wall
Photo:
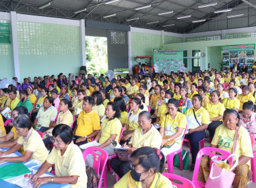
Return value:
M 248 71 L 255 62 L 255 44 L 222 46 L 222 62 L 224 66 L 232 67 L 234 63 L 248 64 Z

